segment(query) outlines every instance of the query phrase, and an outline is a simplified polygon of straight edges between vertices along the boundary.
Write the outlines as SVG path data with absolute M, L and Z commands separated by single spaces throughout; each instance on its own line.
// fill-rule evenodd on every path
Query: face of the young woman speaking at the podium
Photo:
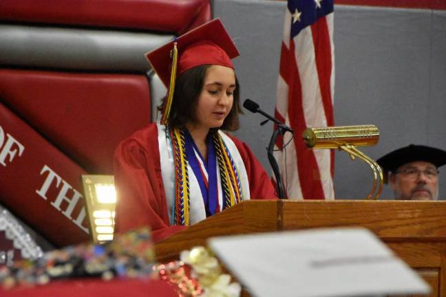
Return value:
M 211 65 L 206 71 L 193 126 L 206 129 L 222 126 L 233 106 L 235 74 L 230 67 Z

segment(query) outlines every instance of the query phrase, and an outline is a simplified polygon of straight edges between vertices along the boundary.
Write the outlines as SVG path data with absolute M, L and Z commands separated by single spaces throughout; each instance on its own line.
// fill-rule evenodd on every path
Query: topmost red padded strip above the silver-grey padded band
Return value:
M 211 19 L 209 0 L 1 0 L 0 19 L 184 33 Z

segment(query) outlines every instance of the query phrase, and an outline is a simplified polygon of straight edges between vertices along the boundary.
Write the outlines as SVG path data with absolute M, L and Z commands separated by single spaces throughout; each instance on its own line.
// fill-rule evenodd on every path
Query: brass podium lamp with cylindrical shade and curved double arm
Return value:
M 304 142 L 308 148 L 337 148 L 346 151 L 352 159 L 358 157 L 366 162 L 374 175 L 372 190 L 365 199 L 379 199 L 383 192 L 383 171 L 368 155 L 358 150 L 357 146 L 372 146 L 378 143 L 379 130 L 374 125 L 337 126 L 308 128 L 304 131 Z M 379 178 L 379 187 L 376 185 Z

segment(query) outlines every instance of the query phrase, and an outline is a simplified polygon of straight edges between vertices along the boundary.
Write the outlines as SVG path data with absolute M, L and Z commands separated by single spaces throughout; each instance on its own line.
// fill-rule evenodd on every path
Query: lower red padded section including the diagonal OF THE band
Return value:
M 147 79 L 0 69 L 0 102 L 0 203 L 56 245 L 88 240 L 81 175 L 113 174 L 151 122 Z

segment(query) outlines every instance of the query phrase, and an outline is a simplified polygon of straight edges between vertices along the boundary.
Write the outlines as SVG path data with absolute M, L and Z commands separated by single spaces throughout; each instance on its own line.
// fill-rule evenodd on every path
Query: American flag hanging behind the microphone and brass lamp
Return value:
M 275 116 L 295 130 L 276 142 L 284 191 L 293 199 L 334 199 L 334 152 L 306 148 L 307 127 L 333 126 L 333 0 L 288 0 Z

